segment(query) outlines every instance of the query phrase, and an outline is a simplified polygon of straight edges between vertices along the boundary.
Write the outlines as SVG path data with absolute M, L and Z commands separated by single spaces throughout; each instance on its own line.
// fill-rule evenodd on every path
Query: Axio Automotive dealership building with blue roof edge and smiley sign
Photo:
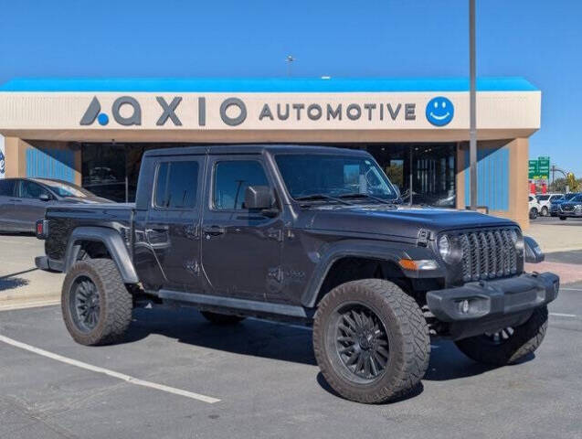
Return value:
M 540 110 L 527 80 L 477 80 L 477 204 L 523 227 Z M 365 149 L 407 200 L 470 204 L 465 79 L 10 80 L 0 134 L 5 177 L 60 178 L 119 201 L 132 201 L 147 149 L 260 143 Z

